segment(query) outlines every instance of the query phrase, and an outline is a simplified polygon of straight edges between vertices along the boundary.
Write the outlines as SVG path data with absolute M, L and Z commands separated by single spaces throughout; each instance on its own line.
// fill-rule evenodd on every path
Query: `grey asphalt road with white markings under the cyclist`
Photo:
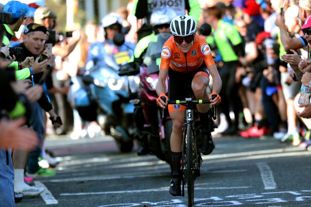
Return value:
M 273 138 L 215 137 L 195 181 L 195 206 L 310 206 L 311 153 Z M 46 191 L 16 206 L 187 207 L 169 194 L 168 164 L 153 155 L 119 153 L 111 137 L 49 137 L 57 175 L 35 178 Z M 187 191 L 185 191 L 187 192 Z

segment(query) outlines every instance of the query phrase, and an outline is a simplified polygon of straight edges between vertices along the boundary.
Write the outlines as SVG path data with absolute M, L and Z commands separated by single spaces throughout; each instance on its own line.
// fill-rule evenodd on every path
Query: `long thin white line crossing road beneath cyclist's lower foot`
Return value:
M 196 187 L 195 190 L 214 190 L 214 189 L 240 189 L 240 188 L 250 188 L 250 186 L 241 187 L 207 187 L 201 188 Z M 82 196 L 82 195 L 100 195 L 100 194 L 117 194 L 117 193 L 142 193 L 142 192 L 158 192 L 167 191 L 168 187 L 156 188 L 156 189 L 146 189 L 146 190 L 132 190 L 132 191 L 105 191 L 105 192 L 88 192 L 88 193 L 61 193 L 60 196 Z M 187 191 L 187 189 L 185 189 Z

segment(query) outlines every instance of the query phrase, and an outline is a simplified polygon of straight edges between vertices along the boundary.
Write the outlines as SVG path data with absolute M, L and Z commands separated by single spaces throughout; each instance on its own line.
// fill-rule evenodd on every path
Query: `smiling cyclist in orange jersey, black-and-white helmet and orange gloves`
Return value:
M 189 89 L 197 99 L 210 99 L 211 105 L 218 105 L 221 98 L 218 95 L 221 89 L 221 79 L 218 74 L 215 61 L 211 55 L 211 49 L 206 41 L 196 34 L 197 23 L 188 15 L 176 16 L 171 24 L 170 31 L 173 34 L 164 44 L 161 53 L 159 80 L 156 92 L 159 95 L 157 104 L 161 108 L 167 106 L 169 100 L 184 100 L 188 97 Z M 178 57 L 178 58 L 176 58 Z M 206 88 L 209 83 L 209 73 L 213 78 L 214 100 L 208 97 Z M 166 91 L 166 76 L 169 75 L 168 97 Z M 191 88 L 188 88 L 188 85 Z M 164 102 L 161 97 L 166 97 Z M 170 146 L 173 161 L 173 179 L 171 180 L 169 193 L 173 196 L 181 195 L 181 169 L 183 142 L 183 122 L 185 106 L 179 104 L 168 105 L 169 115 L 173 121 Z M 209 106 L 197 104 L 199 118 L 202 122 L 202 153 L 208 155 L 213 151 L 211 132 L 208 126 Z

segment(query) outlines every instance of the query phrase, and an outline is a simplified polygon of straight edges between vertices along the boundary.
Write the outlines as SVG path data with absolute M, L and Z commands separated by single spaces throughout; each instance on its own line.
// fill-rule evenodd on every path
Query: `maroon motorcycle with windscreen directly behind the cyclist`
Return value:
M 156 155 L 160 160 L 166 161 L 173 172 L 170 149 L 173 122 L 168 113 L 165 113 L 164 118 L 162 118 L 162 110 L 156 104 L 158 98 L 156 84 L 159 79 L 161 51 L 165 41 L 170 36 L 171 34 L 168 33 L 156 34 L 147 47 L 140 69 L 136 70 L 125 66 L 121 68 L 120 73 L 126 75 L 139 73 L 140 87 L 138 96 L 130 101 L 135 104 L 134 117 L 137 128 L 135 138 L 141 140 L 141 142 L 147 141 L 149 153 Z M 166 86 L 167 84 L 168 78 L 166 79 Z

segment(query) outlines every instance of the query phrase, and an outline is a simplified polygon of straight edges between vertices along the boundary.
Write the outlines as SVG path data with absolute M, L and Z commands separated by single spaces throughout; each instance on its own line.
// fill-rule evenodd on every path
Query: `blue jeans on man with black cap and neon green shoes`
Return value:
M 37 137 L 39 139 L 38 146 L 33 149 L 28 157 L 27 161 L 27 172 L 35 173 L 39 170 L 39 156 L 41 155 L 41 141 L 44 134 L 44 110 L 39 106 L 38 102 L 35 102 L 31 106 L 31 118 L 30 125 L 35 130 Z

